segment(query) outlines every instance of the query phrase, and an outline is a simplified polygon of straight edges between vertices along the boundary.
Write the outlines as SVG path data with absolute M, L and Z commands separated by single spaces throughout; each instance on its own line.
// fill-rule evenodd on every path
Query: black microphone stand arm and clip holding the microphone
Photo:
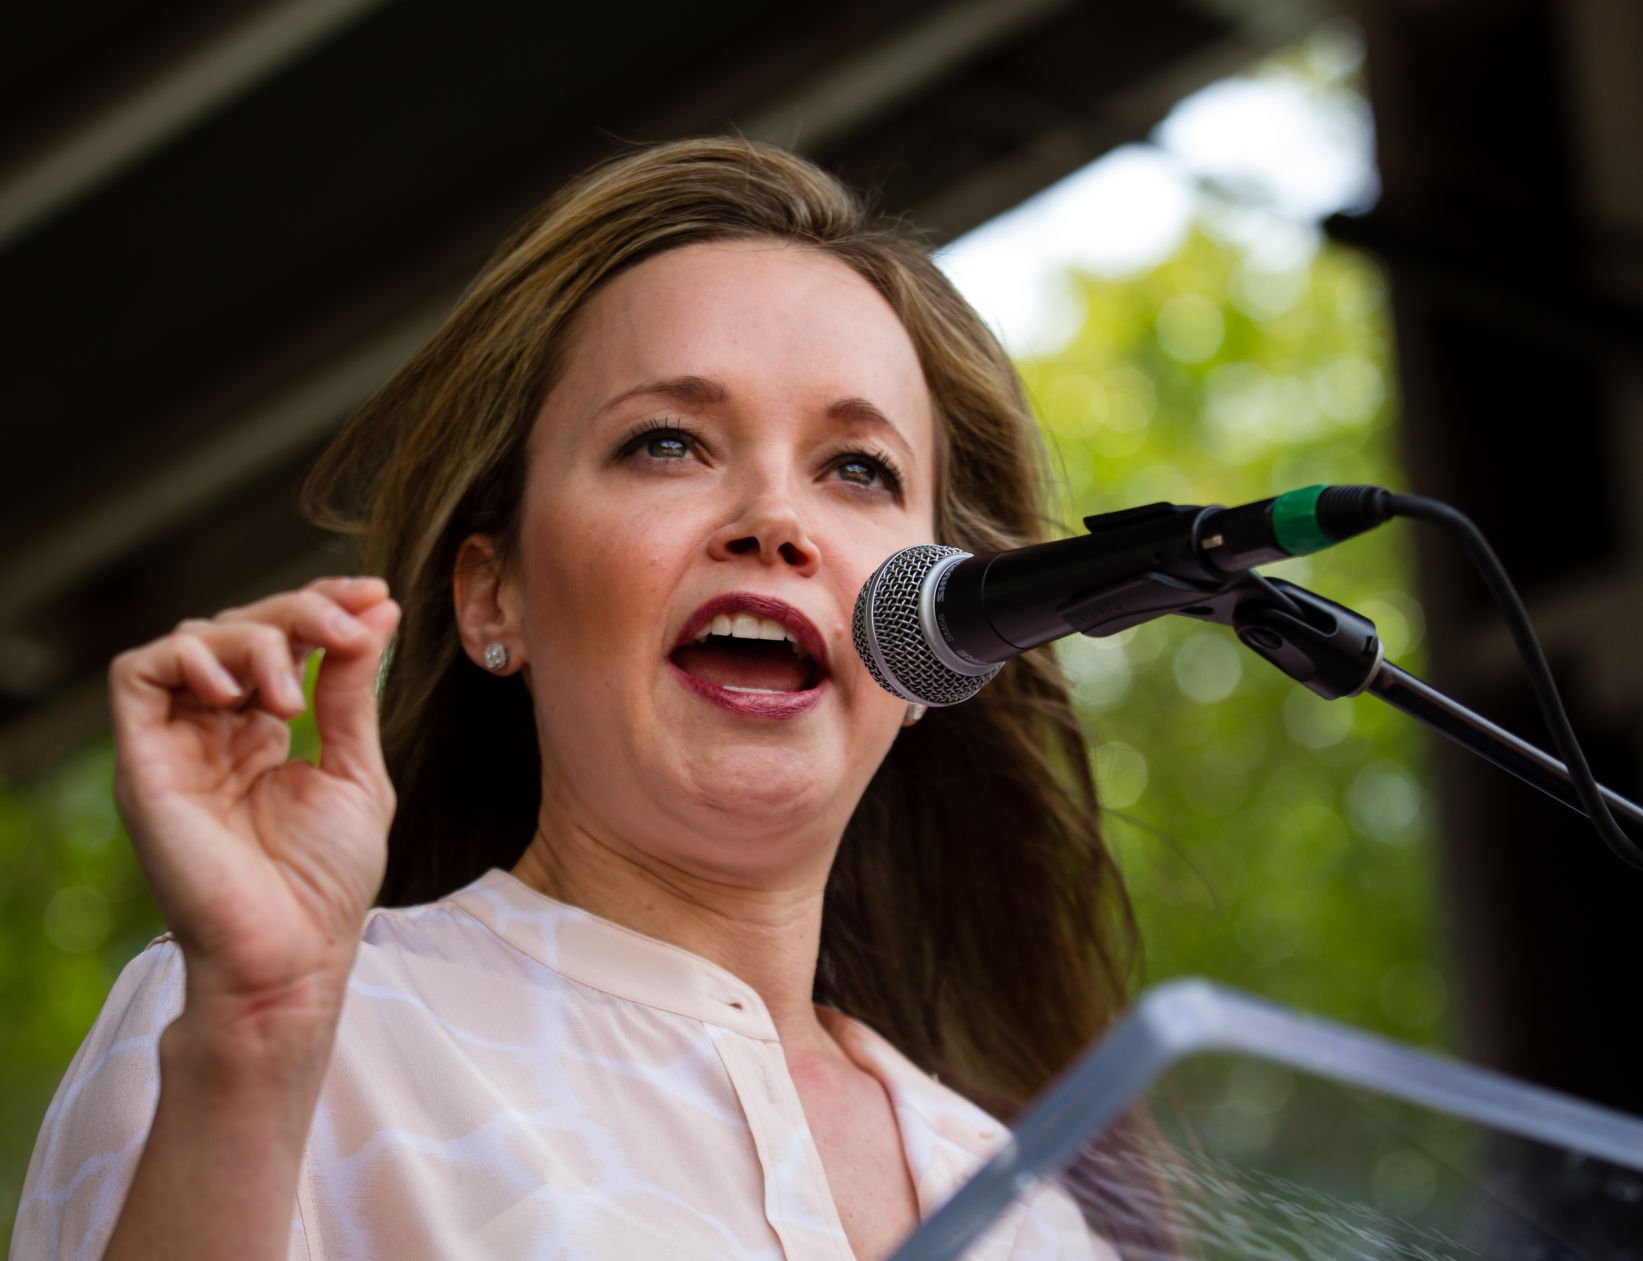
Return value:
M 1176 582 L 1165 582 L 1180 598 Z M 1346 605 L 1250 570 L 1173 612 L 1231 626 L 1245 648 L 1326 700 L 1364 692 L 1377 695 L 1571 811 L 1585 814 L 1564 763 L 1393 666 L 1385 659 L 1375 623 Z M 1102 626 L 1099 633 L 1111 630 L 1117 628 Z M 1599 786 L 1599 792 L 1627 835 L 1643 840 L 1643 807 L 1607 788 Z

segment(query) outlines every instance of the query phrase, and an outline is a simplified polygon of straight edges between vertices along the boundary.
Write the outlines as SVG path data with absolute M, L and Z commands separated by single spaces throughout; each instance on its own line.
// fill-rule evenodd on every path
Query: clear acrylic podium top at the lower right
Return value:
M 1204 982 L 1147 993 L 892 1261 L 1052 1187 L 1124 1261 L 1643 1261 L 1643 1121 Z

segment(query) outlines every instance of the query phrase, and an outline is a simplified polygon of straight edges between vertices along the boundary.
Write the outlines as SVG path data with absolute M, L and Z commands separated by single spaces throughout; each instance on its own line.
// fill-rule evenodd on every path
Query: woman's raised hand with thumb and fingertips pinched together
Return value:
M 189 1006 L 340 1003 L 383 878 L 394 794 L 376 672 L 399 620 L 378 579 L 322 579 L 118 656 L 115 797 L 187 962 Z M 320 763 L 289 760 L 302 663 Z

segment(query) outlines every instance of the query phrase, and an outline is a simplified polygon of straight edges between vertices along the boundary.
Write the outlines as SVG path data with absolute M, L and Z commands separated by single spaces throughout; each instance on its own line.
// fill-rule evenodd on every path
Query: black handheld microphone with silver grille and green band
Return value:
M 1101 513 L 1084 518 L 1088 534 L 987 556 L 904 547 L 863 585 L 851 635 L 879 687 L 918 705 L 956 705 L 1029 648 L 1191 608 L 1255 566 L 1378 526 L 1390 498 L 1382 487 L 1318 485 L 1237 508 Z

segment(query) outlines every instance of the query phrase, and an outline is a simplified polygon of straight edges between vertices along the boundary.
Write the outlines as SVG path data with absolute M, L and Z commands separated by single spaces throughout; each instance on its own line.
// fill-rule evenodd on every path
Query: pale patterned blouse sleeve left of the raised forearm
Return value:
M 159 1100 L 159 1034 L 182 1011 L 169 937 L 125 965 L 46 1110 L 12 1231 L 12 1261 L 99 1258 Z

